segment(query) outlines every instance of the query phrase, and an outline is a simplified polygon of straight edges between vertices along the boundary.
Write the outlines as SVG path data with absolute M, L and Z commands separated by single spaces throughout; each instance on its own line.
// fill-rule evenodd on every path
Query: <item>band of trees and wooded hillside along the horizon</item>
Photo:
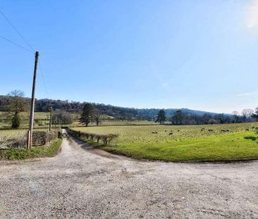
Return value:
M 28 111 L 29 105 L 30 99 L 25 98 L 24 93 L 19 90 L 14 90 L 6 96 L 0 96 L 0 111 L 6 111 L 7 117 L 11 118 L 13 128 L 20 127 L 20 113 Z M 35 111 L 49 112 L 49 106 L 54 108 L 52 123 L 61 125 L 73 123 L 75 120 L 79 120 L 83 125 L 90 123 L 99 125 L 102 115 L 111 115 L 116 120 L 154 120 L 156 123 L 171 122 L 173 125 L 246 123 L 258 120 L 258 108 L 255 110 L 244 109 L 240 113 L 233 111 L 232 114 L 224 114 L 192 111 L 186 108 L 137 109 L 50 99 L 35 101 Z M 81 113 L 80 118 L 73 118 L 71 113 Z

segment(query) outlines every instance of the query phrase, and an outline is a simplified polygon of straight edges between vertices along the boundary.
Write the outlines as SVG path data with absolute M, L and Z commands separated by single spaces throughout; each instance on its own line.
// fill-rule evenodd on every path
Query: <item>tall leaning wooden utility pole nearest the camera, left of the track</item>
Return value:
M 35 89 L 36 89 L 36 76 L 37 76 L 37 62 L 39 59 L 39 52 L 35 53 L 35 65 L 34 65 L 34 75 L 32 83 L 32 96 L 30 104 L 30 129 L 27 132 L 27 149 L 30 149 L 32 146 L 32 134 L 33 134 L 33 120 L 34 120 L 34 108 L 35 108 Z

